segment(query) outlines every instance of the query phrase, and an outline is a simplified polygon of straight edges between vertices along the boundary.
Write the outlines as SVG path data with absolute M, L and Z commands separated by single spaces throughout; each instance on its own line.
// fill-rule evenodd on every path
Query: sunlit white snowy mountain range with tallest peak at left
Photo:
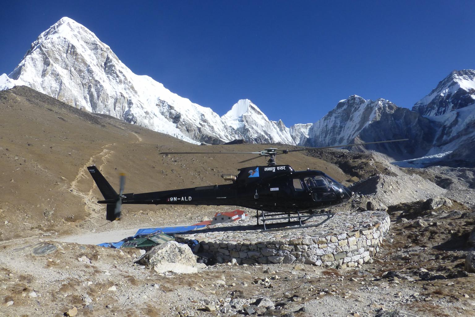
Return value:
M 9 78 L 10 77 L 10 78 Z M 42 32 L 4 89 L 26 85 L 71 106 L 120 118 L 184 141 L 221 144 L 234 139 L 295 144 L 282 121 L 270 121 L 250 100 L 220 117 L 125 66 L 95 34 L 64 17 Z

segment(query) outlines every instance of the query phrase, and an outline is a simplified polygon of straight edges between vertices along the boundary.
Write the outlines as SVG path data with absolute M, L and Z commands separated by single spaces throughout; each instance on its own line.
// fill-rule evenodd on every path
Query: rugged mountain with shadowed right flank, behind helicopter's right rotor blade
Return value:
M 432 147 L 435 133 L 434 125 L 417 112 L 385 99 L 372 101 L 350 96 L 310 128 L 304 145 L 319 147 L 409 139 L 352 148 L 353 151 L 375 150 L 395 159 L 407 159 L 426 154 Z

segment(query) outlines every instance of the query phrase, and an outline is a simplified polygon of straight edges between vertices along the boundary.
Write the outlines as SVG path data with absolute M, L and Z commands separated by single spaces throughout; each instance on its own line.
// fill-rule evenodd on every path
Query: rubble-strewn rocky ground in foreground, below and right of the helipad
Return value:
M 139 261 L 140 250 L 64 243 L 41 235 L 3 241 L 0 316 L 61 316 L 74 307 L 76 316 L 475 316 L 475 274 L 466 267 L 467 259 L 474 258 L 469 237 L 475 211 L 452 194 L 455 184 L 445 193 L 399 199 L 397 204 L 378 200 L 383 195 L 360 193 L 354 208 L 333 209 L 364 218 L 371 201 L 368 209 L 389 214 L 390 231 L 379 252 L 372 263 L 355 268 L 236 260 L 196 273 L 158 273 L 156 263 Z M 447 198 L 452 205 L 423 207 L 430 198 Z M 355 224 L 348 221 L 348 226 Z M 266 252 L 266 257 L 279 257 Z

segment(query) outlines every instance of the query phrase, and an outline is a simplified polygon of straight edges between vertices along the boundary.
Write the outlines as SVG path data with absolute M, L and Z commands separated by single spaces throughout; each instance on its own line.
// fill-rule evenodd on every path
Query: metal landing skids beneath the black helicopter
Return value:
M 269 212 L 269 211 L 260 211 L 256 210 L 256 219 L 257 219 L 257 225 L 259 225 L 259 219 L 261 219 L 262 224 L 264 226 L 264 229 L 262 231 L 280 231 L 280 230 L 291 230 L 291 229 L 300 229 L 300 228 L 311 228 L 311 227 L 318 227 L 325 223 L 326 221 L 329 221 L 330 219 L 333 218 L 334 213 L 315 213 L 315 214 L 306 214 L 303 215 L 300 213 L 300 211 L 293 211 L 293 212 Z M 307 224 L 305 225 L 304 222 L 312 219 L 314 217 L 325 217 L 326 219 L 319 222 L 319 223 L 313 223 L 313 224 Z M 266 221 L 279 221 L 279 220 L 287 220 L 285 221 L 280 221 L 280 222 L 272 222 L 268 223 L 268 225 L 280 225 L 282 226 L 283 224 L 287 223 L 288 225 L 285 227 L 280 227 L 280 228 L 270 228 L 268 229 L 266 227 Z M 297 226 L 291 226 L 291 224 L 296 224 Z

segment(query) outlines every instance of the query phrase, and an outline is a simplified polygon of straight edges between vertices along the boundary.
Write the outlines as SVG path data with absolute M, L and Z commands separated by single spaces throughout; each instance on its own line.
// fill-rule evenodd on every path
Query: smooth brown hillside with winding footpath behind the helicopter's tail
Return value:
M 202 152 L 203 146 L 108 115 L 81 111 L 26 86 L 0 91 L 0 107 L 0 221 L 9 221 L 0 231 L 0 240 L 44 231 L 75 231 L 77 226 L 92 229 L 106 223 L 104 207 L 95 203 L 102 197 L 85 169 L 91 164 L 96 164 L 113 186 L 118 186 L 119 173 L 127 173 L 127 192 L 151 192 L 224 183 L 222 173 L 237 174 L 238 168 L 247 166 L 237 162 L 252 157 L 160 155 L 169 151 Z M 206 146 L 206 151 L 248 152 L 271 146 L 216 145 Z M 279 159 L 297 170 L 310 167 L 340 181 L 349 178 L 334 164 L 303 153 Z M 176 221 L 177 214 L 183 213 L 200 221 L 205 207 L 183 210 L 126 207 L 137 223 L 151 219 Z

